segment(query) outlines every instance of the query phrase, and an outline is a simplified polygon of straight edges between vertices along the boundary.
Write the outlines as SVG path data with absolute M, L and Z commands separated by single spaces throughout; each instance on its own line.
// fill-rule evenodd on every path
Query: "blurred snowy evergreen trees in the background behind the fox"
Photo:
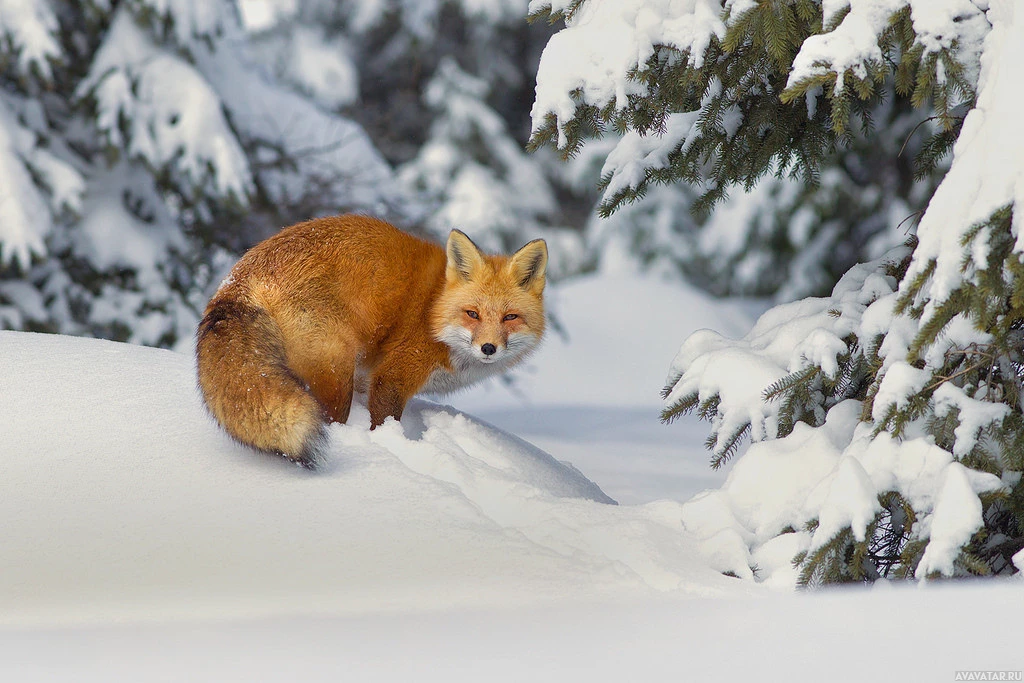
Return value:
M 767 178 L 710 216 L 659 185 L 596 211 L 613 131 L 526 153 L 541 51 L 526 0 L 7 2 L 0 15 L 0 324 L 188 343 L 225 268 L 310 216 L 365 211 L 490 250 L 543 237 L 555 280 L 613 268 L 716 295 L 823 295 L 902 243 L 941 177 L 930 115 L 873 104 L 816 185 Z M 905 144 L 904 144 L 905 143 Z M 901 221 L 904 222 L 898 229 Z

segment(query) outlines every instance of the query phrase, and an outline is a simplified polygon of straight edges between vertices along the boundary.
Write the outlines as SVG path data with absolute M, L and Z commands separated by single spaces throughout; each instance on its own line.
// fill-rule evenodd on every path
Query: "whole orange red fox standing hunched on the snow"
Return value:
M 548 249 L 446 249 L 367 216 L 318 218 L 249 250 L 197 333 L 199 386 L 228 434 L 315 469 L 327 426 L 369 391 L 371 429 L 418 392 L 503 372 L 544 334 Z

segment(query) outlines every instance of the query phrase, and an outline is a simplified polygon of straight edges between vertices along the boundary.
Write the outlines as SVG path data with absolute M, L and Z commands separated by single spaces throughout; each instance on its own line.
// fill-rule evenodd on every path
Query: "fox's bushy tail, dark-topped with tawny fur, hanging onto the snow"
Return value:
M 243 443 L 315 469 L 328 419 L 286 364 L 281 329 L 262 308 L 216 301 L 197 333 L 203 398 L 227 433 Z

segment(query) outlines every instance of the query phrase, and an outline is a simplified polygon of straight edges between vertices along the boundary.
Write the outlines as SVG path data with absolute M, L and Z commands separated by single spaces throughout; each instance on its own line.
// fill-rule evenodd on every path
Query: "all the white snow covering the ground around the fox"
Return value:
M 356 409 L 315 474 L 224 436 L 188 356 L 0 333 L 0 680 L 924 681 L 1020 668 L 1019 582 L 795 597 L 723 575 L 680 523 L 722 475 L 705 471 L 698 425 L 656 422 L 656 396 L 682 337 L 738 334 L 750 317 L 627 275 L 552 298 L 568 341 L 552 336 L 519 394 L 453 401 L 552 455 L 418 400 L 373 433 Z M 966 613 L 987 628 L 964 629 Z M 869 661 L 850 658 L 869 647 Z

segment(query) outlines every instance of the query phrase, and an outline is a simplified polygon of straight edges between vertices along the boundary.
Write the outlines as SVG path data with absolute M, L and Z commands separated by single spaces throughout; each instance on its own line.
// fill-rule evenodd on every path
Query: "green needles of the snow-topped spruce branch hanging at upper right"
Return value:
M 556 20 L 583 4 L 573 2 L 564 13 L 548 8 L 532 18 Z M 685 182 L 700 190 L 692 205 L 699 217 L 731 187 L 751 189 L 767 174 L 816 184 L 826 157 L 837 145 L 851 143 L 853 128 L 870 130 L 874 106 L 893 94 L 909 98 L 914 106 L 934 109 L 941 125 L 923 152 L 925 167 L 934 170 L 963 118 L 953 111 L 973 100 L 955 50 L 926 53 L 915 43 L 908 8 L 896 12 L 879 37 L 885 59 L 865 62 L 863 77 L 847 70 L 841 88 L 836 87 L 839 75 L 834 71 L 787 83 L 801 46 L 824 31 L 820 3 L 765 0 L 738 16 L 723 18 L 724 37 L 713 36 L 701 55 L 656 45 L 630 74 L 646 94 L 629 95 L 625 102 L 612 97 L 595 105 L 582 91 L 574 93 L 574 117 L 559 130 L 556 117 L 546 115 L 534 131 L 530 148 L 558 146 L 567 159 L 588 138 L 605 131 L 662 135 L 670 116 L 697 113 L 691 134 L 669 154 L 668 165 L 648 168 L 642 179 L 626 186 L 613 182 L 613 172 L 604 175 L 599 212 L 606 217 L 624 203 L 642 199 L 652 184 Z

